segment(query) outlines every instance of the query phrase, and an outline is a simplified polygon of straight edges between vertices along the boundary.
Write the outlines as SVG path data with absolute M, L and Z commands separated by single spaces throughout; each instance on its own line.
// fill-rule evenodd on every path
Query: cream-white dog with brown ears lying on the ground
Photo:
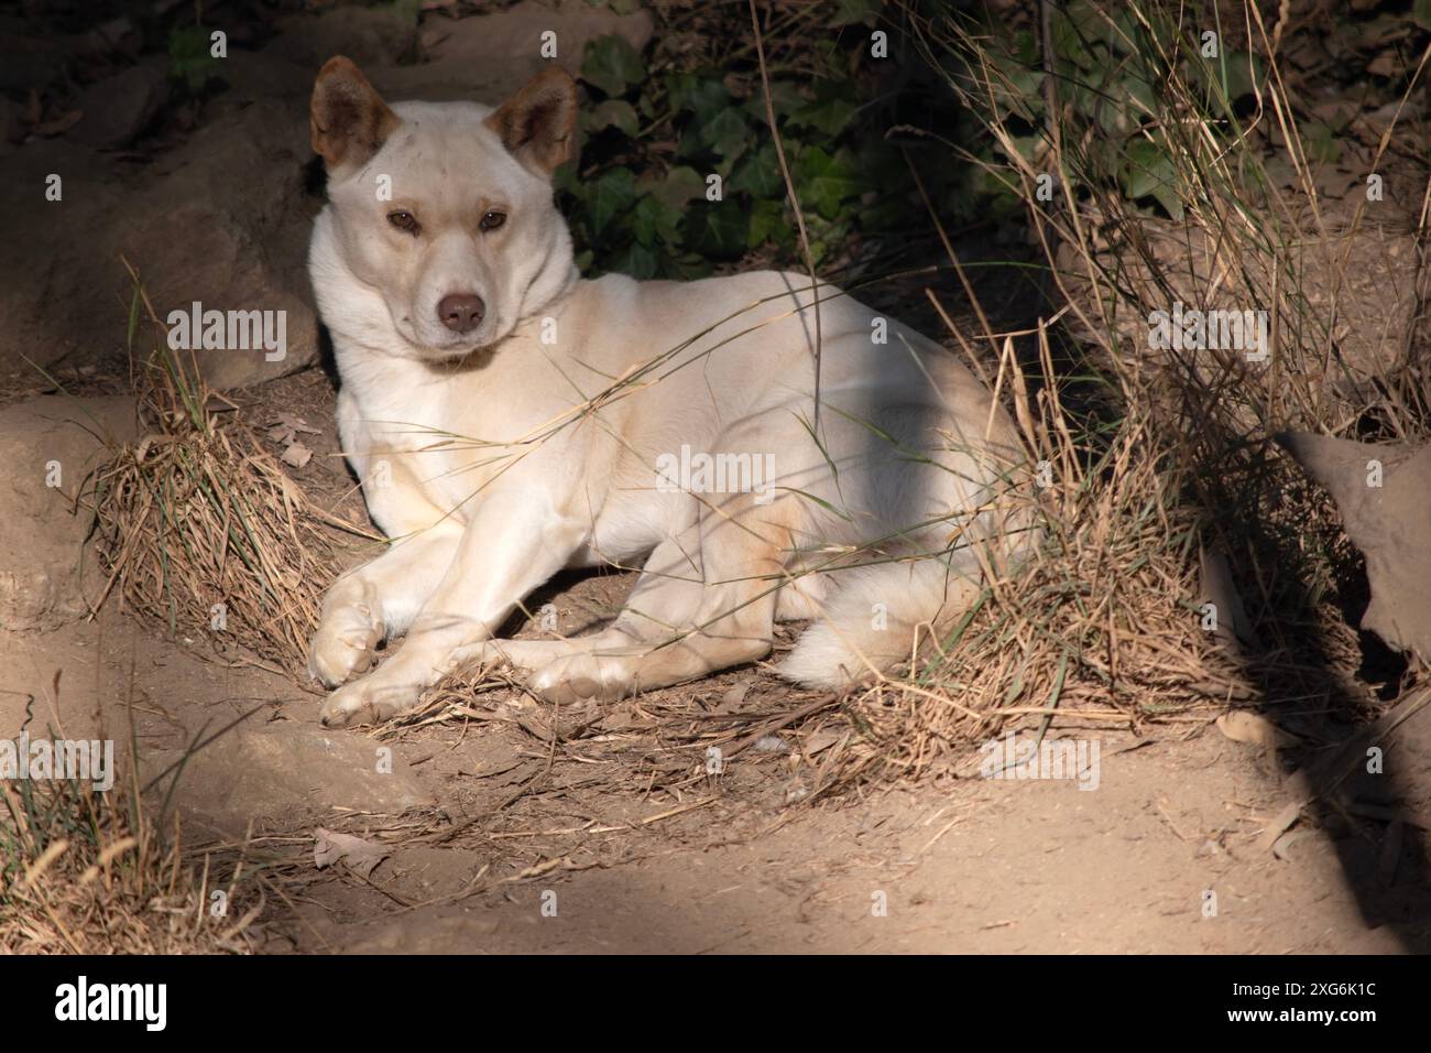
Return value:
M 392 539 L 323 603 L 328 725 L 474 662 L 618 698 L 760 659 L 776 619 L 816 619 L 778 670 L 841 685 L 909 659 L 1033 540 L 1012 423 L 932 341 L 821 285 L 816 414 L 807 278 L 580 279 L 550 182 L 575 117 L 555 66 L 495 110 L 389 107 L 341 57 L 318 74 L 309 268 L 343 451 Z M 608 629 L 494 639 L 562 567 L 637 560 Z

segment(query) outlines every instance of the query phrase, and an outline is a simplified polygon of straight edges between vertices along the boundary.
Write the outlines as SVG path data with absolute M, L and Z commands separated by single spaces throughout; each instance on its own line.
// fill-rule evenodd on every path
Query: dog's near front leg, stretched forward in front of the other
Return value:
M 488 496 L 402 646 L 329 695 L 323 723 L 342 728 L 412 709 L 424 688 L 471 660 L 524 596 L 567 566 L 588 533 L 590 520 L 562 516 L 548 494 Z

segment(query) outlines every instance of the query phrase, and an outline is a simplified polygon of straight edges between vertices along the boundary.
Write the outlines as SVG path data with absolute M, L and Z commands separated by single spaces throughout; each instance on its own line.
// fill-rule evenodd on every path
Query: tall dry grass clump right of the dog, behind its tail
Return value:
M 1418 374 L 1402 368 L 1410 330 L 1382 327 L 1368 354 L 1342 354 L 1348 328 L 1388 308 L 1385 291 L 1369 302 L 1349 292 L 1354 268 L 1365 265 L 1349 248 L 1367 234 L 1365 211 L 1355 208 L 1332 231 L 1328 209 L 1318 208 L 1315 172 L 1296 138 L 1298 105 L 1255 7 L 1244 9 L 1245 32 L 1262 42 L 1268 77 L 1255 113 L 1238 117 L 1222 99 L 1224 120 L 1192 119 L 1208 105 L 1206 89 L 1186 76 L 1183 50 L 1196 39 L 1191 26 L 1201 24 L 1193 14 L 1156 0 L 1088 7 L 1110 33 L 1130 10 L 1166 42 L 1166 52 L 1123 43 L 1125 60 L 1141 63 L 1156 89 L 1156 110 L 1145 116 L 1173 162 L 1178 223 L 1128 202 L 1115 173 L 1100 168 L 1090 129 L 1059 105 L 1060 95 L 1089 87 L 1080 70 L 1055 69 L 1045 80 L 1055 116 L 1030 160 L 1017 142 L 1019 115 L 1000 105 L 1017 93 L 1010 57 L 953 16 L 920 21 L 910 10 L 926 56 L 962 64 L 950 85 L 985 122 L 996 158 L 966 160 L 1019 193 L 1045 252 L 1049 317 L 1065 319 L 1040 324 L 1020 355 L 1005 344 L 1000 358 L 1019 381 L 1013 401 L 1030 457 L 1050 466 L 1049 543 L 986 590 L 944 642 L 947 655 L 844 702 L 857 736 L 836 781 L 917 778 L 1009 719 L 1046 731 L 1055 711 L 1136 728 L 1199 702 L 1318 711 L 1338 696 L 1352 709 L 1372 701 L 1367 688 L 1344 691 L 1361 655 L 1337 593 L 1355 574 L 1355 556 L 1331 503 L 1266 441 L 1288 427 L 1338 433 L 1367 421 L 1387 437 L 1427 433 Z M 1030 17 L 1037 26 L 1035 6 Z M 1368 148 L 1372 168 L 1385 159 L 1394 125 Z M 1274 139 L 1291 143 L 1295 192 L 1249 175 L 1262 170 Z M 1058 175 L 1053 201 L 1036 193 L 1045 172 Z M 1405 234 L 1425 244 L 1424 209 Z M 1155 242 L 1161 251 L 1149 248 Z M 1332 248 L 1314 252 L 1309 242 Z M 1401 305 L 1405 317 L 1424 314 L 1424 289 L 1415 275 L 1395 289 L 1414 299 Z M 1268 309 L 1269 361 L 1252 364 L 1241 351 L 1149 354 L 1149 314 L 1171 311 L 1175 298 Z M 950 328 L 966 348 L 987 352 L 1006 341 L 987 327 L 967 335 Z M 1016 358 L 1037 384 L 1032 414 Z M 1256 646 L 1203 632 L 1203 547 L 1234 567 Z

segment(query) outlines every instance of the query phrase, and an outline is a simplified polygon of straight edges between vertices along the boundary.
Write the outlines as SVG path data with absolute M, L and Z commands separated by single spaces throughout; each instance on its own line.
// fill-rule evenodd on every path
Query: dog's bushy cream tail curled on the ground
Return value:
M 809 688 L 843 688 L 940 645 L 982 590 L 979 567 L 923 557 L 833 572 L 833 595 L 781 676 Z

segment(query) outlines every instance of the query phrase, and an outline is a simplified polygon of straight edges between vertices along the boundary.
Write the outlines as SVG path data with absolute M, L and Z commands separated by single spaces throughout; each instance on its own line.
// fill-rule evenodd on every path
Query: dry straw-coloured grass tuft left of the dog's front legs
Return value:
M 113 590 L 170 636 L 238 645 L 301 676 L 346 554 L 339 532 L 372 534 L 308 500 L 192 355 L 162 338 L 135 380 L 142 437 L 92 477 L 100 602 Z

